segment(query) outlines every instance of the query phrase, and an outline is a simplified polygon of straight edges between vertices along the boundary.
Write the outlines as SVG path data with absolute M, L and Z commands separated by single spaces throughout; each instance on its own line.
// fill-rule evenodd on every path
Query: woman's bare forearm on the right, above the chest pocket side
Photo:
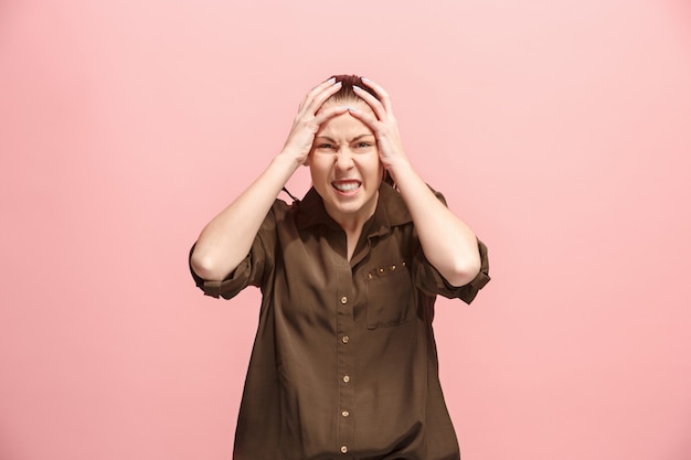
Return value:
M 480 270 L 475 233 L 442 203 L 411 163 L 401 158 L 390 169 L 429 263 L 453 286 L 470 282 Z

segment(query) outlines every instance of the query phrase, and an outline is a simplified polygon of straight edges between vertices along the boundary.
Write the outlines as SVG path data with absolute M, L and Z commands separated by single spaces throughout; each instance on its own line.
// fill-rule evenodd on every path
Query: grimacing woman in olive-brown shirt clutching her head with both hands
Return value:
M 302 164 L 312 188 L 277 200 Z M 263 293 L 235 459 L 459 458 L 434 302 L 469 303 L 489 281 L 487 249 L 411 165 L 381 86 L 339 75 L 312 88 L 190 265 L 209 296 Z

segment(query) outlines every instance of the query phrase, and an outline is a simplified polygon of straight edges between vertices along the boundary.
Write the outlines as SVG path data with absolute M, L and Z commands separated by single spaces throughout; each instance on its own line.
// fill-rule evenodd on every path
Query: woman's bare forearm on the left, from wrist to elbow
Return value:
M 278 154 L 233 203 L 201 232 L 191 265 L 208 280 L 222 280 L 247 256 L 262 222 L 299 163 Z

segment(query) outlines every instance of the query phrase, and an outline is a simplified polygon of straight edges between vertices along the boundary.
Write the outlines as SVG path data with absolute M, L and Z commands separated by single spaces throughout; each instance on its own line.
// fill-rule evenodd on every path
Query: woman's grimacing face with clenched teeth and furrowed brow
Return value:
M 363 100 L 348 105 L 372 110 Z M 372 130 L 350 113 L 320 127 L 309 169 L 327 212 L 341 226 L 362 225 L 374 213 L 384 170 Z

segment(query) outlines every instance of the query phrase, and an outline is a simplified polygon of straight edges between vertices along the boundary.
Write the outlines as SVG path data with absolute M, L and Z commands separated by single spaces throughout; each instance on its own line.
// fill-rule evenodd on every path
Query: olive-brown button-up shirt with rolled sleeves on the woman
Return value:
M 437 194 L 440 200 L 442 195 Z M 311 189 L 276 200 L 245 260 L 204 293 L 262 290 L 236 460 L 458 459 L 433 334 L 437 295 L 469 303 L 427 261 L 401 195 L 382 183 L 349 261 L 343 229 Z

